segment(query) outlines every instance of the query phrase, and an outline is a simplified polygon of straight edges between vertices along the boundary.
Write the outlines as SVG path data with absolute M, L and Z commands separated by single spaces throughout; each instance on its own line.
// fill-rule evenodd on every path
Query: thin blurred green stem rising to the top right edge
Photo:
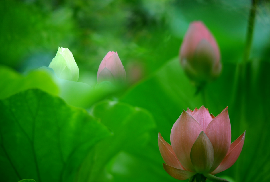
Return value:
M 246 34 L 246 45 L 245 45 L 244 56 L 243 56 L 244 64 L 248 61 L 250 50 L 251 50 L 257 2 L 258 0 L 252 0 L 251 9 L 249 12 L 249 20 L 248 20 L 248 27 L 247 27 L 247 34 Z

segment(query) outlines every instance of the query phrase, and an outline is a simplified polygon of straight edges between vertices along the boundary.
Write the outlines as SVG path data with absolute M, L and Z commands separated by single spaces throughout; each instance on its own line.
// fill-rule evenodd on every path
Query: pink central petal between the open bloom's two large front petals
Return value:
M 204 131 L 206 130 L 208 124 L 212 121 L 209 111 L 204 106 L 201 106 L 201 108 L 195 114 L 193 114 L 193 118 L 197 120 Z

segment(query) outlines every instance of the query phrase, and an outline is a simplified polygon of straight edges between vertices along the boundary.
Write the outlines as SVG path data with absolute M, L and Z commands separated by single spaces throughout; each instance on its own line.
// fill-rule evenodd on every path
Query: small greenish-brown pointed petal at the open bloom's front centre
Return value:
M 191 148 L 190 158 L 197 173 L 206 173 L 212 167 L 214 149 L 203 131 L 199 134 Z

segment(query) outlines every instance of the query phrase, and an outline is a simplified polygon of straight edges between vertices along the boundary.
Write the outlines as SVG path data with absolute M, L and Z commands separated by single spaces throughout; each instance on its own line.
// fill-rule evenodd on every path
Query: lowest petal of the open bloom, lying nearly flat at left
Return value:
M 189 171 L 177 169 L 175 167 L 171 167 L 171 166 L 169 166 L 169 165 L 167 165 L 165 163 L 163 163 L 163 168 L 165 169 L 165 171 L 169 175 L 171 175 L 171 177 L 174 177 L 175 179 L 179 179 L 179 180 L 189 179 L 191 176 L 196 174 L 196 173 L 193 173 L 193 172 L 189 172 Z

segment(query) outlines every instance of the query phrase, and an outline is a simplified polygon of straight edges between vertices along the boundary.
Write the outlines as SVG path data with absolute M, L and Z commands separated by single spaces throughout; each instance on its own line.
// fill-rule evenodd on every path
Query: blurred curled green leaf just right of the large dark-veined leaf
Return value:
M 149 140 L 149 130 L 155 127 L 148 111 L 117 101 L 100 102 L 93 106 L 91 113 L 111 130 L 113 136 L 99 142 L 95 152 L 85 160 L 79 180 L 82 182 L 106 180 L 101 174 L 109 161 L 121 151 L 145 146 Z M 86 170 L 88 173 L 84 172 Z

